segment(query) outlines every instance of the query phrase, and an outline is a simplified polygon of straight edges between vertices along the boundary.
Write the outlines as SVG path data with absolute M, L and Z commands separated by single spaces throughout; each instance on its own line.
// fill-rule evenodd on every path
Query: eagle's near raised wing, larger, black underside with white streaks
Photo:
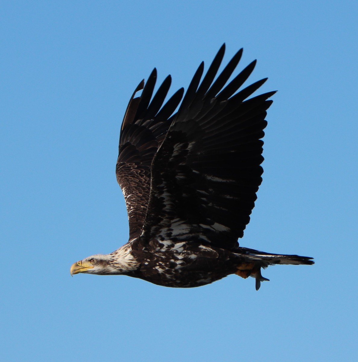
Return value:
M 261 138 L 266 110 L 275 92 L 246 100 L 266 79 L 237 92 L 255 61 L 225 88 L 242 49 L 214 81 L 225 45 L 203 81 L 196 71 L 165 141 L 152 163 L 152 188 L 141 235 L 152 239 L 199 241 L 221 248 L 238 247 L 250 221 L 261 184 Z

